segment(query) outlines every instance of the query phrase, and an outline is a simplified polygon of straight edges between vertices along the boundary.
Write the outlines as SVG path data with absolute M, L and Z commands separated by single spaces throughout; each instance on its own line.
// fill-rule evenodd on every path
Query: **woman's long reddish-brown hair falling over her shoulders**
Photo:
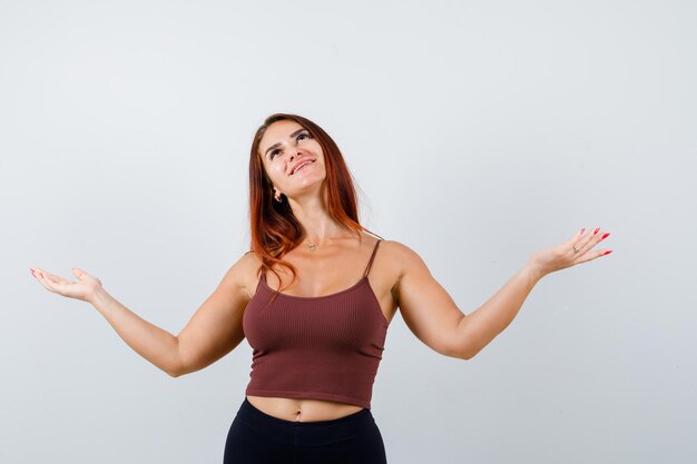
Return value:
M 278 273 L 276 273 L 272 266 L 277 264 L 287 267 L 293 274 L 293 279 L 288 284 L 289 287 L 296 280 L 297 269 L 291 263 L 282 258 L 286 253 L 301 244 L 303 229 L 300 221 L 293 215 L 287 199 L 282 203 L 274 200 L 272 182 L 264 170 L 259 154 L 259 144 L 266 129 L 272 124 L 283 119 L 293 120 L 304 129 L 307 129 L 311 136 L 320 144 L 320 147 L 322 147 L 324 164 L 326 166 L 325 181 L 327 187 L 327 206 L 331 217 L 350 229 L 357 231 L 359 236 L 360 230 L 365 230 L 372 235 L 376 234 L 363 227 L 359 221 L 353 178 L 346 167 L 341 150 L 332 137 L 320 126 L 302 116 L 282 112 L 271 115 L 256 130 L 249 152 L 251 248 L 262 261 L 257 274 L 265 274 L 267 269 L 272 269 L 272 272 L 278 276 Z M 278 278 L 278 282 L 281 282 L 281 278 Z M 277 292 L 281 292 L 281 288 L 278 288 Z

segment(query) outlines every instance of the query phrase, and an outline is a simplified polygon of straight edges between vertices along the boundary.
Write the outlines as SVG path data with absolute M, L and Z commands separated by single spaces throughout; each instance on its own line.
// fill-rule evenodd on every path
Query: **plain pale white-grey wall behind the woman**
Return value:
M 362 223 L 465 314 L 536 250 L 611 233 L 469 362 L 397 314 L 372 402 L 390 463 L 690 461 L 696 20 L 687 0 L 0 1 L 0 462 L 222 462 L 247 342 L 171 378 L 29 267 L 81 267 L 177 334 L 249 247 L 273 112 L 336 140 Z

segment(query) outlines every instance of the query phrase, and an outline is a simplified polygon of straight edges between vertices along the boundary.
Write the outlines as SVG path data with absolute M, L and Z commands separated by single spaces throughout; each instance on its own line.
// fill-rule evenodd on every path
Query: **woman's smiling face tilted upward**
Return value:
M 293 120 L 282 119 L 268 126 L 259 144 L 259 156 L 275 190 L 288 198 L 321 185 L 326 177 L 322 147 Z

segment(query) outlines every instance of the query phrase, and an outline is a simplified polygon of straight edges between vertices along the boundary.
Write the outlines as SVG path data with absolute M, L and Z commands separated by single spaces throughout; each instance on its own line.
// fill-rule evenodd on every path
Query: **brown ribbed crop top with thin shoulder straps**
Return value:
M 277 293 L 262 275 L 243 316 L 253 348 L 246 395 L 328 399 L 371 408 L 389 325 L 367 280 L 380 241 L 363 278 L 331 295 Z

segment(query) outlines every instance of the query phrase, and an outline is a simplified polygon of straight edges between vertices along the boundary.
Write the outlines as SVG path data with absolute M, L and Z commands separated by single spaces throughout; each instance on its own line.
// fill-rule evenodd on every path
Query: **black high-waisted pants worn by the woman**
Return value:
M 386 464 L 370 409 L 333 421 L 271 416 L 245 396 L 227 433 L 224 464 Z

